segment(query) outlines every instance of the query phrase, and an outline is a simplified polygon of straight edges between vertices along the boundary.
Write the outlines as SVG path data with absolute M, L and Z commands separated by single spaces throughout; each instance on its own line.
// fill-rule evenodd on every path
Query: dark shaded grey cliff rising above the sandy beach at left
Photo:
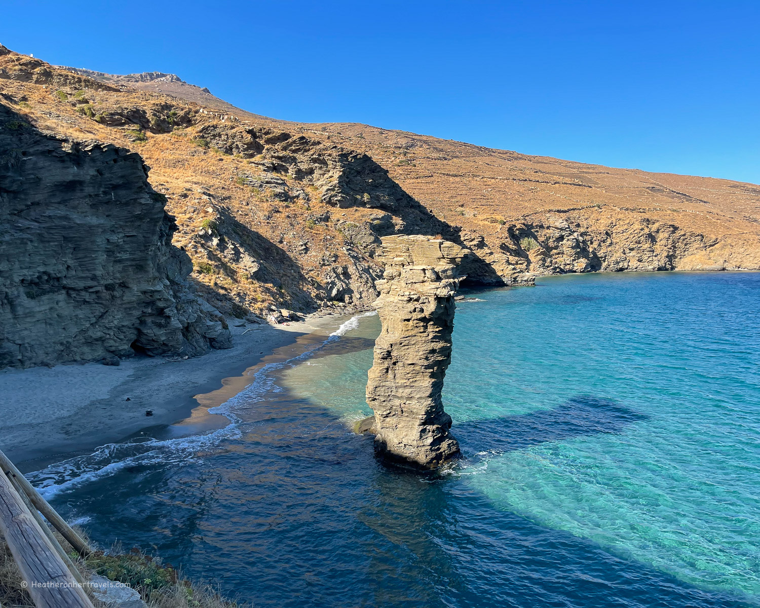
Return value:
M 0 368 L 230 346 L 165 200 L 138 154 L 0 106 Z

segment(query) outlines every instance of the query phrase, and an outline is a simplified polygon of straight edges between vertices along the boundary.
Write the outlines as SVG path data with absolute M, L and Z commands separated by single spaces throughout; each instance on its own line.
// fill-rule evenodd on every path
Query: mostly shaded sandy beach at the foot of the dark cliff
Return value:
M 119 366 L 0 370 L 0 448 L 27 473 L 142 434 L 183 436 L 226 426 L 225 416 L 206 410 L 249 385 L 250 369 L 264 359 L 295 356 L 302 337 L 327 336 L 350 316 L 315 314 L 277 326 L 230 323 L 232 348 L 182 361 L 138 355 Z

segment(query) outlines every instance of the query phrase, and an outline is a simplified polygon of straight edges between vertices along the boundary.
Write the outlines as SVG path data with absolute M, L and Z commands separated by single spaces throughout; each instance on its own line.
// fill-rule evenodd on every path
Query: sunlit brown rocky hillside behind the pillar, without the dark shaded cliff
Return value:
M 230 106 L 171 74 L 0 55 L 2 103 L 41 130 L 138 151 L 176 245 L 237 315 L 367 306 L 378 236 L 442 234 L 470 280 L 596 270 L 760 268 L 760 187 L 532 157 Z

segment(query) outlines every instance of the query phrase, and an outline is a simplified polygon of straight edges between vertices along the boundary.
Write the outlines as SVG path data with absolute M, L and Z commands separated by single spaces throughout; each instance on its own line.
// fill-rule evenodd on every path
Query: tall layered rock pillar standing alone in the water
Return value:
M 442 239 L 382 239 L 385 273 L 375 302 L 382 331 L 366 394 L 375 411 L 375 451 L 390 461 L 433 469 L 458 457 L 441 391 L 451 363 L 457 270 L 466 255 Z

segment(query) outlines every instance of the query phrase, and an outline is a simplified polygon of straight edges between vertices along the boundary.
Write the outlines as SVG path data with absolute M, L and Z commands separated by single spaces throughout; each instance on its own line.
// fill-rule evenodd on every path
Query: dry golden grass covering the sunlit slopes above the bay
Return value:
M 0 57 L 0 68 L 14 73 L 18 66 L 30 62 L 21 55 L 5 55 Z M 280 177 L 289 187 L 304 189 L 309 196 L 307 204 L 276 201 L 264 188 L 258 191 L 241 184 L 240 176 L 255 174 L 255 163 L 266 160 L 267 155 L 245 159 L 219 154 L 211 142 L 207 147 L 199 146 L 198 141 L 204 139 L 202 129 L 210 125 L 302 133 L 323 143 L 333 141 L 363 150 L 436 217 L 461 226 L 464 234 L 482 235 L 493 252 L 511 250 L 515 226 L 532 230 L 531 225 L 565 223 L 574 230 L 604 235 L 638 230 L 643 221 L 674 224 L 702 233 L 707 240 L 719 239 L 733 247 L 732 255 L 737 256 L 736 265 L 741 267 L 760 264 L 760 189 L 750 185 L 534 157 L 367 125 L 283 123 L 235 109 L 211 96 L 181 99 L 160 93 L 155 83 L 103 90 L 93 81 L 72 80 L 71 74 L 65 76 L 65 72 L 54 68 L 52 73 L 53 81 L 47 87 L 0 80 L 0 91 L 18 100 L 14 109 L 56 134 L 96 138 L 137 150 L 151 167 L 150 183 L 166 195 L 167 210 L 176 216 L 179 232 L 174 242 L 185 247 L 196 268 L 207 268 L 208 264 L 214 267 L 214 272 L 195 272 L 193 280 L 201 284 L 204 297 L 227 314 L 242 307 L 264 316 L 272 304 L 303 309 L 299 302 L 307 306 L 309 299 L 312 304 L 333 306 L 324 301 L 324 293 L 320 292 L 319 286 L 327 280 L 320 259 L 331 252 L 339 256 L 334 266 L 350 265 L 335 222 L 343 219 L 359 223 L 377 211 L 328 207 L 321 201 L 318 188 L 294 182 L 290 175 Z M 141 87 L 143 90 L 139 90 Z M 169 85 L 161 83 L 160 88 L 164 87 Z M 186 85 L 169 89 L 179 96 L 188 90 L 198 93 Z M 83 99 L 76 99 L 80 90 Z M 157 106 L 172 106 L 179 114 L 195 113 L 192 124 L 170 132 L 147 132 L 146 141 L 140 143 L 128 135 L 135 125 L 108 127 L 88 118 L 86 109 L 82 114 L 79 108 L 85 100 L 95 116 L 124 108 L 150 116 Z M 199 100 L 207 105 L 196 103 Z M 208 207 L 213 211 L 206 211 Z M 245 226 L 274 244 L 282 254 L 280 260 L 287 257 L 293 261 L 270 273 L 281 275 L 281 287 L 252 279 L 250 265 L 239 261 L 240 251 L 235 250 L 234 243 L 226 248 L 223 240 L 213 244 L 210 239 L 198 237 L 199 224 L 217 220 L 219 209 L 230 220 L 226 227 L 231 223 Z M 325 211 L 330 212 L 331 222 L 315 225 L 315 214 Z M 305 241 L 308 248 L 302 246 Z M 248 253 L 256 257 L 254 250 Z M 504 261 L 524 264 L 509 255 Z

